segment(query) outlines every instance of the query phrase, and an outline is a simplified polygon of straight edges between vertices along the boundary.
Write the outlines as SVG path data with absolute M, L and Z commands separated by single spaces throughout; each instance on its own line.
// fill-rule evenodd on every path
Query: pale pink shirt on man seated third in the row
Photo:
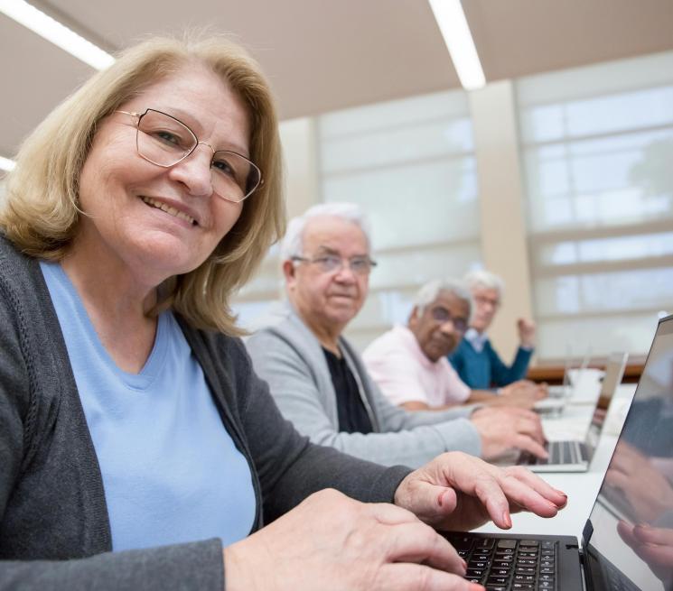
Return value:
M 430 361 L 407 327 L 388 330 L 367 347 L 362 359 L 371 378 L 393 404 L 460 404 L 472 392 L 446 357 Z

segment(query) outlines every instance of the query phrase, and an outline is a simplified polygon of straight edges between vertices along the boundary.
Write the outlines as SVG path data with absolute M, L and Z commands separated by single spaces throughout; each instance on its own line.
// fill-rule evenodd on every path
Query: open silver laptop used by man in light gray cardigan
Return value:
M 601 392 L 594 402 L 594 418 L 584 441 L 577 439 L 548 441 L 546 448 L 549 457 L 547 459 L 541 459 L 524 452 L 519 456 L 517 464 L 527 466 L 534 472 L 586 472 L 594 457 L 594 450 L 603 430 L 603 417 L 599 417 L 596 412 L 598 404 L 599 402 L 612 401 L 617 386 L 622 383 L 628 358 L 628 353 L 617 353 L 608 357 Z

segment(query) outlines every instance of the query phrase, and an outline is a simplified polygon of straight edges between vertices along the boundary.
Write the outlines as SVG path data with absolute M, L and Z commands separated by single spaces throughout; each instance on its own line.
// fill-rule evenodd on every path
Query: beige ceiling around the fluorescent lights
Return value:
M 147 34 L 228 32 L 283 118 L 460 86 L 425 0 L 33 0 L 115 51 Z M 671 0 L 463 0 L 488 81 L 673 49 Z M 0 14 L 0 155 L 92 69 Z

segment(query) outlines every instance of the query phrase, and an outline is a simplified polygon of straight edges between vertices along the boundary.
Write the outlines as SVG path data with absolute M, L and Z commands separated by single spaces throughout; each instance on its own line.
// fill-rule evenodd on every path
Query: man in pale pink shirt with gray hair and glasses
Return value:
M 433 281 L 416 294 L 407 326 L 396 326 L 375 339 L 362 359 L 388 400 L 407 411 L 444 410 L 463 402 L 531 409 L 545 389 L 530 382 L 510 384 L 494 395 L 474 390 L 446 359 L 468 328 L 470 292 L 453 280 Z

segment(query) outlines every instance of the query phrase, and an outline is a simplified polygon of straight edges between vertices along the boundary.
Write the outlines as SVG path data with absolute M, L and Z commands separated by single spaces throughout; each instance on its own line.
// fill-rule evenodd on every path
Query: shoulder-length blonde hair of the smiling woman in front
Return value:
M 285 203 L 271 90 L 257 62 L 234 42 L 222 37 L 154 38 L 122 52 L 24 141 L 7 178 L 0 226 L 24 253 L 61 260 L 78 231 L 79 174 L 98 123 L 154 82 L 193 63 L 225 80 L 247 107 L 250 159 L 261 169 L 264 183 L 244 201 L 237 223 L 209 258 L 162 285 L 154 312 L 170 307 L 196 328 L 239 335 L 229 297 L 284 234 Z

